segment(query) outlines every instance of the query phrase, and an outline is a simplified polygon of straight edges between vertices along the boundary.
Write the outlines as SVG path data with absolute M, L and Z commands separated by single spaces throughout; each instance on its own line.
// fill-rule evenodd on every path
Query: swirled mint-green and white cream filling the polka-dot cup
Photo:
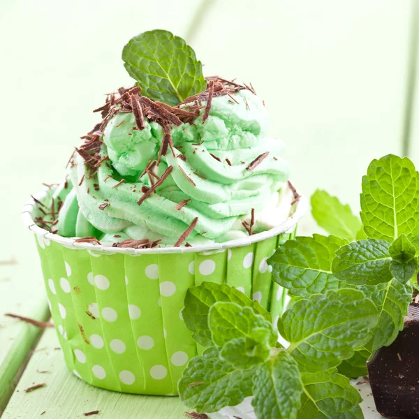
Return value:
M 160 244 L 172 245 L 198 217 L 187 238 L 196 245 L 248 235 L 242 222 L 250 223 L 252 209 L 253 233 L 284 221 L 293 200 L 286 186 L 289 168 L 284 143 L 267 137 L 267 110 L 260 98 L 248 89 L 237 91 L 233 100 L 217 96 L 204 123 L 203 114 L 204 108 L 191 123 L 170 128 L 175 155 L 169 148 L 152 169 L 154 175 L 142 173 L 159 158 L 163 127 L 145 118 L 140 131 L 132 112 L 112 117 L 101 146 L 101 156 L 109 160 L 90 177 L 89 167 L 76 154 L 67 187 L 55 191 L 64 201 L 59 235 L 93 235 L 111 243 L 161 239 Z M 169 166 L 169 177 L 138 205 Z

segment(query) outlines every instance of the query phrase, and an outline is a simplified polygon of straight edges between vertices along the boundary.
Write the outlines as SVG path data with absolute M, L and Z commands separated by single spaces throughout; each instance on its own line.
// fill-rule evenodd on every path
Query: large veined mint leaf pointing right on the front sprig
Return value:
M 279 333 L 302 372 L 336 367 L 372 336 L 378 323 L 374 303 L 348 288 L 297 301 L 279 321 Z

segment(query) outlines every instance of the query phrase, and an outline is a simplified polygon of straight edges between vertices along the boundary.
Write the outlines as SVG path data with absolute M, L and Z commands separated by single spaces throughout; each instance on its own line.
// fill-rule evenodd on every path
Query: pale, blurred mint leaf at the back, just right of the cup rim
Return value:
M 353 215 L 349 205 L 343 205 L 338 198 L 319 189 L 311 196 L 311 214 L 321 228 L 350 242 L 357 238 L 362 228 L 360 219 Z

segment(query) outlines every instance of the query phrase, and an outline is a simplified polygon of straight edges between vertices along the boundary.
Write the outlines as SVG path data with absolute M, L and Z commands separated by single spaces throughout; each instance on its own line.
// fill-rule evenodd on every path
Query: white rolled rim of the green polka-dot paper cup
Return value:
M 35 195 L 35 198 L 42 200 L 47 193 L 47 189 L 43 189 Z M 279 226 L 271 228 L 270 230 L 263 231 L 249 237 L 244 237 L 240 239 L 230 240 L 223 243 L 212 243 L 212 244 L 203 244 L 195 247 L 154 247 L 152 249 L 132 249 L 128 247 L 111 247 L 105 246 L 103 244 L 91 244 L 91 243 L 80 243 L 75 242 L 75 239 L 70 239 L 67 237 L 62 237 L 57 234 L 52 234 L 49 231 L 45 230 L 36 225 L 34 219 L 32 218 L 32 212 L 35 209 L 35 201 L 33 198 L 29 200 L 27 205 L 24 205 L 22 209 L 22 220 L 36 235 L 45 237 L 47 240 L 52 240 L 52 242 L 57 242 L 65 247 L 70 247 L 73 249 L 87 249 L 89 251 L 94 251 L 98 253 L 112 254 L 112 253 L 123 253 L 132 256 L 140 256 L 142 254 L 168 254 L 168 253 L 196 253 L 196 252 L 217 252 L 225 251 L 226 249 L 231 249 L 233 247 L 244 247 L 249 244 L 261 242 L 263 240 L 270 239 L 271 237 L 276 237 L 282 233 L 291 233 L 297 222 L 302 219 L 302 216 L 306 214 L 309 208 L 309 202 L 307 198 L 301 196 L 297 203 L 295 203 L 295 212 L 292 216 L 286 219 Z

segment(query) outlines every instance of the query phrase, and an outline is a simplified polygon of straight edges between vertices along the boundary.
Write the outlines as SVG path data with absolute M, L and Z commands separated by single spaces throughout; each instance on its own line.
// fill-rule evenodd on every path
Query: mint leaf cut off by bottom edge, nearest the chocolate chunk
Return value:
M 297 419 L 363 419 L 362 398 L 345 376 L 336 371 L 301 374 L 304 392 Z

